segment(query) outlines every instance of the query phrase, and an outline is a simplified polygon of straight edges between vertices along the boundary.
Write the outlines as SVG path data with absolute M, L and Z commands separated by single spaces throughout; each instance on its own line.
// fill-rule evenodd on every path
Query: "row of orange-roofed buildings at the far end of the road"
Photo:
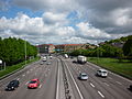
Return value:
M 55 53 L 55 52 L 70 53 L 75 50 L 87 50 L 95 47 L 96 47 L 95 45 L 90 44 L 61 44 L 61 45 L 42 44 L 37 46 L 37 50 L 40 53 Z

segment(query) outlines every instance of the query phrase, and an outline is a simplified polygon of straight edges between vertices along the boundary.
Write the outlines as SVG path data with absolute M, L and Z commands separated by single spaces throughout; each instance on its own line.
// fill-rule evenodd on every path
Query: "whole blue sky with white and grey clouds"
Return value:
M 132 0 L 0 0 L 0 36 L 78 44 L 132 35 Z

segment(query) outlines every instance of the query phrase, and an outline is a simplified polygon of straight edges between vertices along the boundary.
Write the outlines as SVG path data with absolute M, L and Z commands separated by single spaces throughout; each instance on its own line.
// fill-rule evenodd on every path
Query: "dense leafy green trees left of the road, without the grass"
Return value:
M 26 59 L 37 55 L 36 47 L 26 41 L 15 37 L 0 37 L 0 59 L 6 62 L 8 66 L 25 61 L 25 50 Z

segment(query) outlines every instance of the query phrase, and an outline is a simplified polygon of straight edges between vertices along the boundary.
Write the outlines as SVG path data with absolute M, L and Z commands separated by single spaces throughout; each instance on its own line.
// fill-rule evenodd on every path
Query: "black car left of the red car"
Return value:
M 14 80 L 11 80 L 8 86 L 6 87 L 6 90 L 14 90 L 15 88 L 18 88 L 20 85 L 19 80 L 14 79 Z

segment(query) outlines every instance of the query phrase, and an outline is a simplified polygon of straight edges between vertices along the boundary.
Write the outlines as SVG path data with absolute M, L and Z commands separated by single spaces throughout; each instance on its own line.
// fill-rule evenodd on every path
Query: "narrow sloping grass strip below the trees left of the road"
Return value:
M 34 59 L 31 61 L 26 61 L 26 64 L 30 64 L 32 62 L 38 61 L 38 57 L 35 57 Z M 6 70 L 0 70 L 0 78 L 2 78 L 3 76 L 11 74 L 18 69 L 22 69 L 25 66 L 25 62 L 22 62 L 20 64 L 13 65 L 13 66 L 7 66 Z

